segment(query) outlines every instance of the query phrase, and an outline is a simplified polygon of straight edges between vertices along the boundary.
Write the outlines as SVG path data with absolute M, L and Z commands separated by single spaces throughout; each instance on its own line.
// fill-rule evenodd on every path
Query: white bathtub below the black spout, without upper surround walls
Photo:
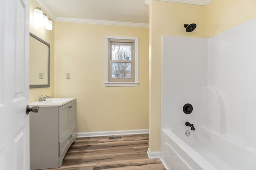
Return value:
M 206 128 L 190 132 L 187 137 L 161 130 L 161 160 L 167 170 L 256 170 L 255 150 Z

